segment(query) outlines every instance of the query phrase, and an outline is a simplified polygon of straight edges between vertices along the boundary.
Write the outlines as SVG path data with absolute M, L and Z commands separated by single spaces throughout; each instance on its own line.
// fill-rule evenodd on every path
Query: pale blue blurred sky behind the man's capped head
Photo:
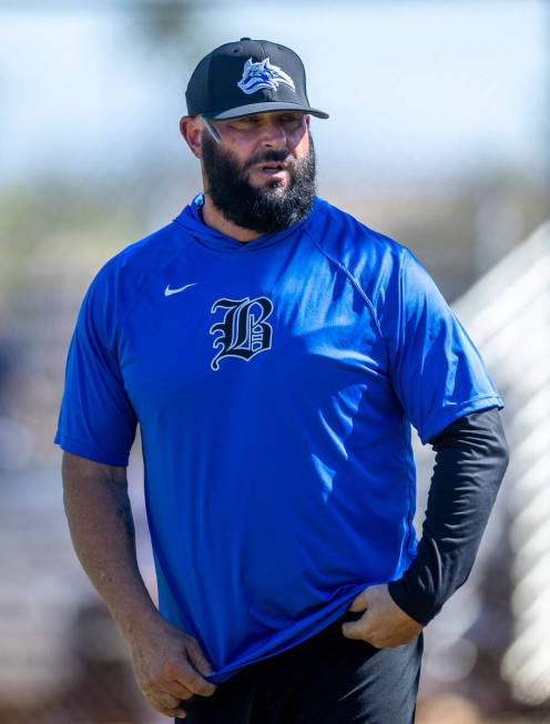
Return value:
M 322 171 L 446 179 L 540 174 L 550 160 L 550 13 L 542 0 L 263 2 L 193 11 L 165 53 L 114 6 L 0 4 L 0 183 L 181 154 L 184 89 L 242 35 L 293 47 L 308 72 Z M 140 39 L 142 44 L 140 45 Z

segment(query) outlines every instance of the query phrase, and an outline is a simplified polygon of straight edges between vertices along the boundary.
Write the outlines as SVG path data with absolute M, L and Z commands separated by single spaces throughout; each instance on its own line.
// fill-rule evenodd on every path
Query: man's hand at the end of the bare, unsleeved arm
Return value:
M 185 718 L 182 702 L 194 694 L 212 696 L 216 686 L 201 674 L 212 666 L 196 639 L 159 618 L 126 638 L 138 684 L 151 706 L 172 718 Z

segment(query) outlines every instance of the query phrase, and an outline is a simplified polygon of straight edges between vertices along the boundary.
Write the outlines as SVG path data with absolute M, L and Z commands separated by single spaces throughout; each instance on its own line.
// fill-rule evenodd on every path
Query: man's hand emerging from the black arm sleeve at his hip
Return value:
M 344 635 L 347 639 L 363 639 L 377 649 L 401 646 L 422 630 L 417 621 L 395 603 L 385 584 L 365 589 L 348 610 L 365 613 L 357 621 L 342 625 Z

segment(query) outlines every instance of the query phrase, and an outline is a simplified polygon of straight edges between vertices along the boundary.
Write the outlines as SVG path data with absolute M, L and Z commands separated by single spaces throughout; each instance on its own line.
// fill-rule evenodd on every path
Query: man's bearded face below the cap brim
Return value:
M 303 221 L 315 197 L 315 150 L 308 116 L 272 111 L 204 128 L 206 192 L 234 224 L 259 234 Z

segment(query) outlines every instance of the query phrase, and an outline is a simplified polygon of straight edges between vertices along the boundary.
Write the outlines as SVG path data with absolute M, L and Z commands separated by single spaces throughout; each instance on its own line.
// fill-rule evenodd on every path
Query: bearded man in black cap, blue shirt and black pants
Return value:
M 405 247 L 315 194 L 305 72 L 243 38 L 181 132 L 204 194 L 85 296 L 57 442 L 80 560 L 152 706 L 191 723 L 401 724 L 422 626 L 502 478 L 502 402 Z M 125 467 L 140 424 L 160 611 Z M 410 422 L 437 450 L 417 544 Z

